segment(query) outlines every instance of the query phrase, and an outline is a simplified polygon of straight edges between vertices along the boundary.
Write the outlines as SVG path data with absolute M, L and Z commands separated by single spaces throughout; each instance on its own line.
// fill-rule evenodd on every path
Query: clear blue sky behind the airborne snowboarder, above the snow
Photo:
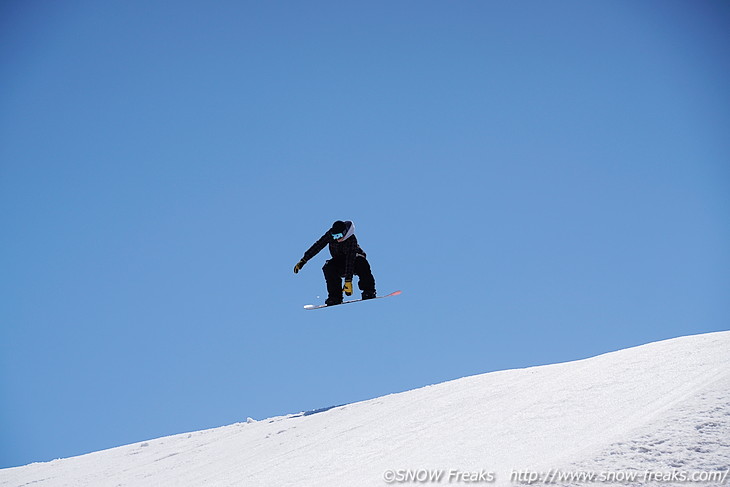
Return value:
M 728 329 L 728 86 L 724 1 L 0 3 L 0 467 Z M 302 309 L 336 219 L 402 296 Z

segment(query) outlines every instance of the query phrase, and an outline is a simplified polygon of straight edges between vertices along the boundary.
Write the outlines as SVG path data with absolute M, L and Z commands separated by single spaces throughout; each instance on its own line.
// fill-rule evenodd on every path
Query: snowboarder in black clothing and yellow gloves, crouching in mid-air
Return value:
M 329 244 L 332 258 L 325 262 L 322 271 L 327 282 L 327 300 L 325 304 L 332 306 L 342 303 L 342 292 L 352 296 L 352 276 L 358 276 L 357 286 L 362 291 L 362 299 L 372 299 L 375 293 L 375 278 L 370 270 L 370 263 L 365 252 L 357 244 L 355 225 L 351 221 L 337 220 L 327 233 L 322 235 L 304 257 L 294 266 L 294 274 L 298 274 L 304 264 L 317 255 Z M 342 278 L 345 286 L 342 287 Z

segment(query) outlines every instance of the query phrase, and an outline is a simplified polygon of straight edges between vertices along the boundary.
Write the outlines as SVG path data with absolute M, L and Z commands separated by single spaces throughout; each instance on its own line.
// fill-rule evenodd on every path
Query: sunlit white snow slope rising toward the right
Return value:
M 0 470 L 0 486 L 730 485 L 728 468 L 719 332 Z

